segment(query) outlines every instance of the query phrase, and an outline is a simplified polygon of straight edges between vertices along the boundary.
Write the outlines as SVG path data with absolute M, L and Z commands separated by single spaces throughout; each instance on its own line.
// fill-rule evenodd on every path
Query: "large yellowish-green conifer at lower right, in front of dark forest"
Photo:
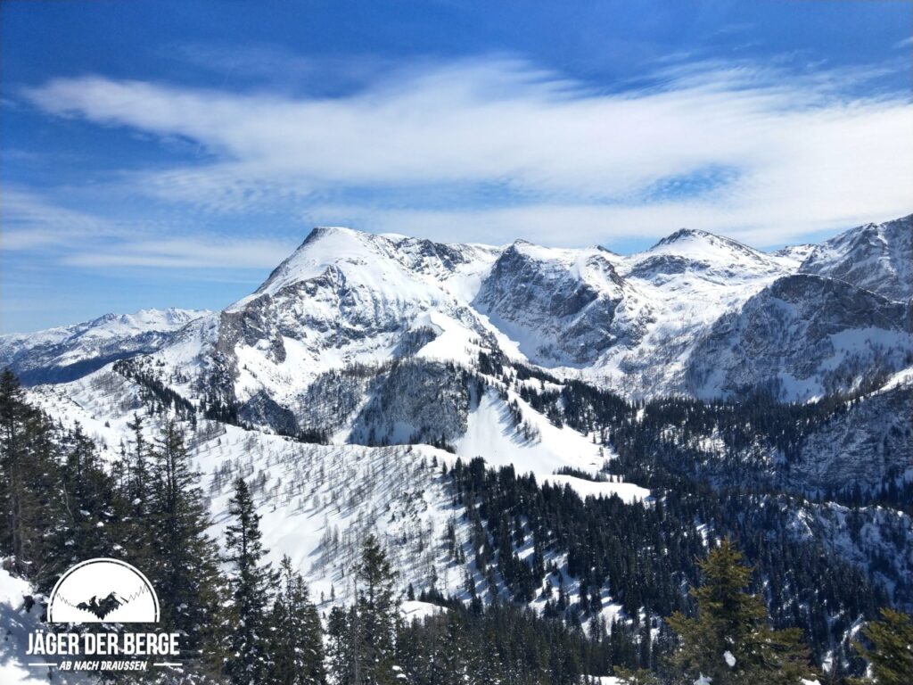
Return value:
M 759 595 L 745 592 L 751 569 L 724 540 L 700 563 L 703 584 L 692 589 L 698 617 L 669 617 L 681 645 L 671 658 L 683 682 L 706 676 L 714 685 L 794 685 L 813 677 L 798 630 L 773 630 Z

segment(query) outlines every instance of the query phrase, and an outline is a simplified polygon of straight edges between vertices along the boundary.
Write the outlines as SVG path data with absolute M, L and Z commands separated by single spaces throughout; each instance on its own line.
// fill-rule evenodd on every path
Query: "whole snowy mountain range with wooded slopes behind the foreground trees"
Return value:
M 223 311 L 4 335 L 0 365 L 111 458 L 133 416 L 181 418 L 214 533 L 250 479 L 267 546 L 318 594 L 344 596 L 379 532 L 402 585 L 458 595 L 477 567 L 428 541 L 469 524 L 434 467 L 481 457 L 647 507 L 673 478 L 748 489 L 907 606 L 911 237 L 913 215 L 772 253 L 683 229 L 621 256 L 320 227 Z

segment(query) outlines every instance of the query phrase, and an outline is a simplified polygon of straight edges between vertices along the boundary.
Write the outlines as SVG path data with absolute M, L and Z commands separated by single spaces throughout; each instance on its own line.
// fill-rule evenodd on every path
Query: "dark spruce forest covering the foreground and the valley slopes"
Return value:
M 706 465 L 708 475 L 687 439 L 664 434 L 670 424 L 687 435 L 712 423 L 731 441 L 750 439 L 746 415 L 736 419 L 728 406 L 693 400 L 630 406 L 572 384 L 559 412 L 557 396 L 524 393 L 552 420 L 574 421 L 611 441 L 621 458 L 605 478 L 636 473 L 660 496 L 650 506 L 584 500 L 570 487 L 540 485 L 512 467 L 490 469 L 480 458 L 436 465 L 471 531 L 468 545 L 457 544 L 452 530 L 439 543 L 455 564 L 474 564 L 485 580 L 467 575 L 461 598 L 433 586 L 403 590 L 383 544 L 367 535 L 350 569 L 352 601 L 344 603 L 311 596 L 288 557 L 268 562 L 256 488 L 244 478 L 232 484 L 225 539 L 210 537 L 202 474 L 185 447 L 187 416 L 176 420 L 182 408 L 167 397 L 157 416 L 133 416 L 130 443 L 106 463 L 79 425 L 55 425 L 5 372 L 0 555 L 7 572 L 35 588 L 20 611 L 40 613 L 58 576 L 81 560 L 115 557 L 141 567 L 163 607 L 155 629 L 182 635 L 183 668 L 104 676 L 114 682 L 913 681 L 911 618 L 892 610 L 886 590 L 857 567 L 783 530 L 783 511 L 801 494 L 765 482 L 761 469 L 742 479 L 751 465 L 738 474 L 731 464 Z M 651 417 L 643 430 L 627 430 L 632 411 Z M 787 452 L 791 430 L 816 420 L 813 406 L 746 411 L 751 425 L 767 422 L 759 430 Z M 149 422 L 154 439 L 146 437 Z M 829 495 L 850 504 L 860 497 Z M 897 503 L 906 493 L 872 497 Z M 708 539 L 696 521 L 712 529 Z M 521 556 L 530 539 L 532 552 Z M 556 553 L 579 581 L 573 590 Z M 600 611 L 605 587 L 623 608 L 609 624 Z M 894 605 L 908 604 L 909 593 L 909 582 L 898 584 Z M 537 597 L 538 611 L 530 608 Z M 411 600 L 436 610 L 406 621 L 400 606 Z M 823 672 L 814 664 L 826 655 L 833 666 Z

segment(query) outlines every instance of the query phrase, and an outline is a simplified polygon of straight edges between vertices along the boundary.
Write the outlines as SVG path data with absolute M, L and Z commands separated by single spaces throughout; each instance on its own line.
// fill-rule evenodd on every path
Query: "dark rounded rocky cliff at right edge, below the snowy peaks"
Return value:
M 796 274 L 720 317 L 687 364 L 698 396 L 846 393 L 913 364 L 909 306 L 845 281 Z

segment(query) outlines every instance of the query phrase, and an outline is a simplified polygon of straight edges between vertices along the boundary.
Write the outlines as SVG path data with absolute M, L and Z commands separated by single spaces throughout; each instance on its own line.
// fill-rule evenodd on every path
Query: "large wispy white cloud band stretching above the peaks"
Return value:
M 451 238 L 473 222 L 495 242 L 584 243 L 690 226 L 758 245 L 910 211 L 908 97 L 842 95 L 858 73 L 796 77 L 746 64 L 666 68 L 657 78 L 650 89 L 594 92 L 491 59 L 414 68 L 336 99 L 101 77 L 56 79 L 26 97 L 58 115 L 198 142 L 215 163 L 145 172 L 137 187 L 216 211 L 300 211 L 335 189 L 411 188 L 421 206 L 426 189 L 452 187 L 441 211 L 350 202 L 309 214 Z M 652 192 L 708 168 L 731 174 L 700 193 Z M 528 204 L 477 209 L 465 194 L 474 184 L 505 184 Z M 574 233 L 550 236 L 555 227 Z

